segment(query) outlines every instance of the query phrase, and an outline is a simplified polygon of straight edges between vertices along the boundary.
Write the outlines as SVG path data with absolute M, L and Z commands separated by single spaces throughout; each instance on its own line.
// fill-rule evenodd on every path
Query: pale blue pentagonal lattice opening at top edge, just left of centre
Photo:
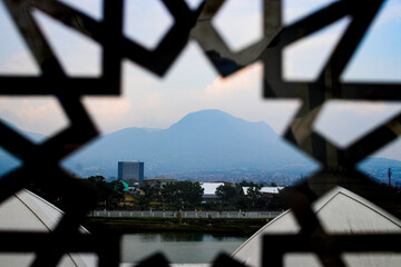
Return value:
M 124 33 L 146 48 L 155 49 L 174 23 L 163 2 L 125 0 L 124 3 Z

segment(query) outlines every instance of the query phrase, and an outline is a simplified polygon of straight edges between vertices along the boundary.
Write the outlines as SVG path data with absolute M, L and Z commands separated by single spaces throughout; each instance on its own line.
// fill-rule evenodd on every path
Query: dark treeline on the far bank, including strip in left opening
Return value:
M 164 185 L 160 189 L 150 185 L 143 185 L 135 191 L 127 192 L 120 181 L 107 181 L 102 176 L 91 176 L 79 179 L 89 190 L 98 195 L 97 208 L 106 209 L 213 209 L 213 210 L 278 210 L 286 209 L 283 189 L 280 194 L 265 195 L 261 191 L 262 184 L 241 181 L 219 186 L 215 198 L 205 198 L 204 189 L 198 181 L 176 181 Z M 272 184 L 271 186 L 275 186 Z M 243 187 L 248 187 L 243 194 Z M 48 201 L 63 209 L 62 198 L 53 192 L 30 187 L 30 190 Z M 129 194 L 135 198 L 129 207 L 124 205 L 125 196 Z

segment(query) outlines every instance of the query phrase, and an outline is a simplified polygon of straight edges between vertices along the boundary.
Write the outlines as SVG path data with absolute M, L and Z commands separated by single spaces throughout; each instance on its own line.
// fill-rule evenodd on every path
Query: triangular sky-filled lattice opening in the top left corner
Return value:
M 39 75 L 40 70 L 2 1 L 0 1 L 0 73 Z

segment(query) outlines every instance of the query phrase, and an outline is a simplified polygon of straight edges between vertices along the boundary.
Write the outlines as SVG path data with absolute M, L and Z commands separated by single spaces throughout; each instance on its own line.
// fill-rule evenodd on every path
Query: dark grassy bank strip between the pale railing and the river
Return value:
M 172 218 L 87 218 L 84 226 L 91 233 L 144 231 L 202 231 L 252 235 L 266 224 L 266 219 L 208 219 L 186 218 L 179 224 Z

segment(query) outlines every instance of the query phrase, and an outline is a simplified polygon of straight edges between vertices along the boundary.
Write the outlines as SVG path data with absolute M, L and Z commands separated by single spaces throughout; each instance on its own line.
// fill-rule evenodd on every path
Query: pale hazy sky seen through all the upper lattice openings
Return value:
M 101 1 L 63 0 L 101 20 Z M 188 1 L 196 4 L 198 1 Z M 286 0 L 283 20 L 291 23 L 333 1 Z M 232 0 L 214 22 L 231 38 L 231 47 L 247 46 L 261 36 L 261 1 Z M 126 34 L 154 48 L 158 38 L 173 23 L 157 0 L 126 0 Z M 56 53 L 70 76 L 98 76 L 100 48 L 92 41 L 35 11 Z M 236 24 L 236 22 L 239 22 Z M 285 79 L 313 80 L 331 49 L 348 26 L 345 18 L 300 42 L 284 52 Z M 255 31 L 251 29 L 256 29 Z M 372 31 L 348 66 L 342 78 L 346 81 L 401 81 L 401 0 L 390 0 L 381 10 Z M 305 63 L 306 62 L 306 63 Z M 123 96 L 84 98 L 84 103 L 98 128 L 111 132 L 126 127 L 167 128 L 188 112 L 221 109 L 233 116 L 265 121 L 282 134 L 300 106 L 294 100 L 262 99 L 263 66 L 256 62 L 233 77 L 222 79 L 212 68 L 196 42 L 189 42 L 165 77 L 156 77 L 139 66 L 124 62 Z M 38 75 L 40 71 L 23 41 L 10 22 L 0 1 L 0 73 Z M 401 111 L 399 102 L 330 101 L 315 128 L 331 140 L 346 146 L 383 119 Z M 0 118 L 17 127 L 51 135 L 68 125 L 53 98 L 0 97 Z M 398 141 L 401 142 L 401 141 Z M 400 145 L 382 156 L 401 160 Z

